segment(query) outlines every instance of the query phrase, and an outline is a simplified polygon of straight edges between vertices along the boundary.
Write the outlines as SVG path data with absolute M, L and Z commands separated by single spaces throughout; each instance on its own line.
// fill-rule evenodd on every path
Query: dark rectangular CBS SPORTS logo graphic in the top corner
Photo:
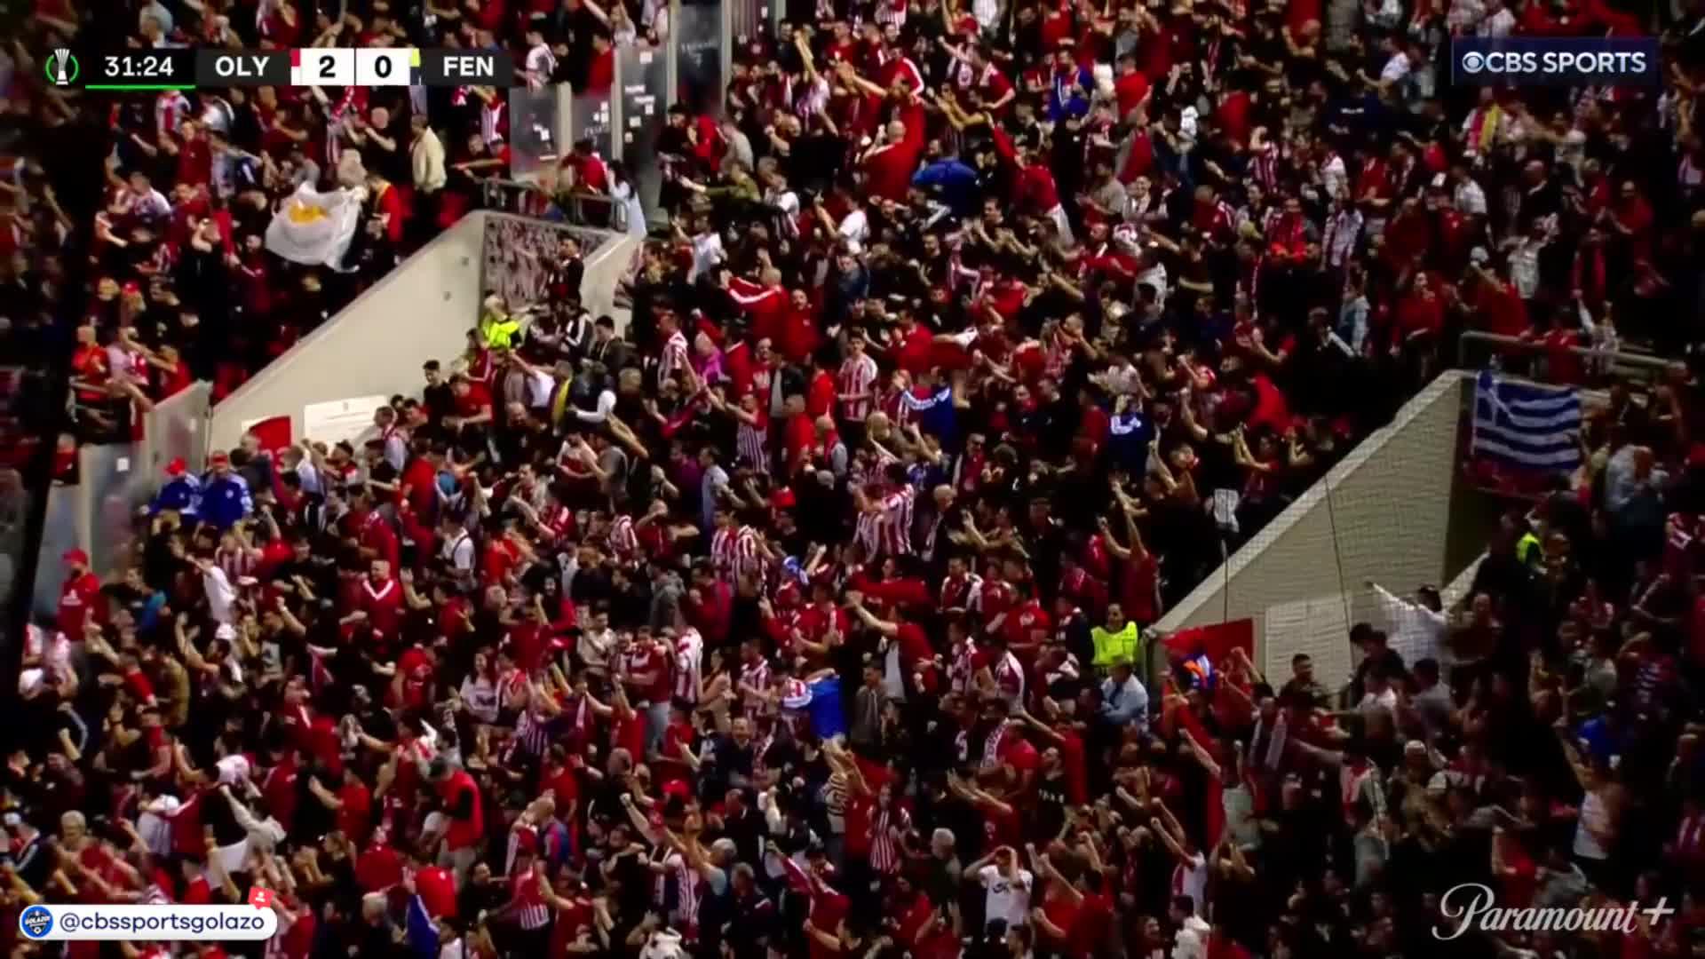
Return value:
M 1657 38 L 1459 38 L 1451 82 L 1461 85 L 1656 87 Z

